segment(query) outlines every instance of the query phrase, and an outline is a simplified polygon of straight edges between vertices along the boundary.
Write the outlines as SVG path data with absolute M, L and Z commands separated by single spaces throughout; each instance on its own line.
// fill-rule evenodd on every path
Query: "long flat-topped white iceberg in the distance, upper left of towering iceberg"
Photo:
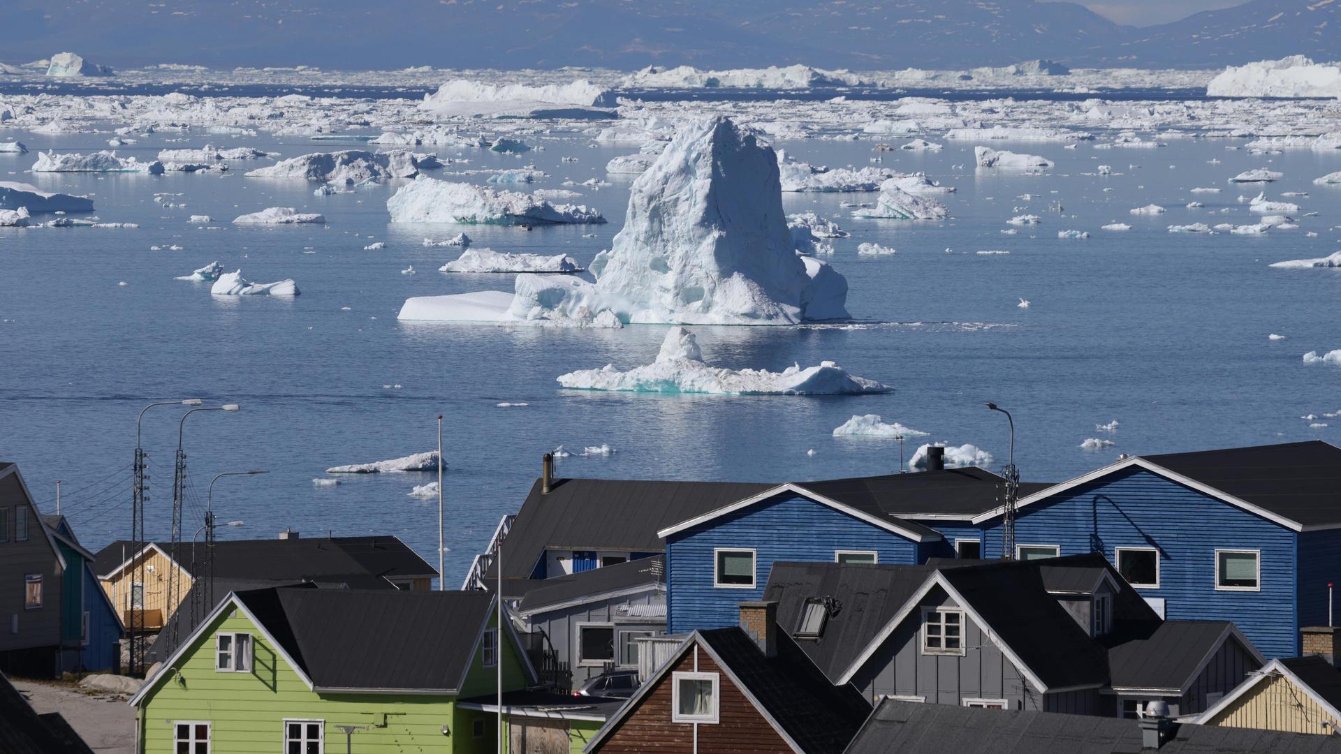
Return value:
M 420 109 L 443 118 L 613 118 L 614 105 L 609 91 L 586 80 L 492 86 L 456 79 L 425 94 Z

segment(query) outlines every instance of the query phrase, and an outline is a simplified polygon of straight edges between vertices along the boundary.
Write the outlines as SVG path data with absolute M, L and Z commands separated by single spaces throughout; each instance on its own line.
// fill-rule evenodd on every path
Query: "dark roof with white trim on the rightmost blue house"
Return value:
M 1341 527 L 1341 448 L 1321 440 L 1133 456 L 1023 496 L 1023 508 L 1112 474 L 1145 470 L 1291 529 Z M 1000 507 L 974 518 L 982 523 Z

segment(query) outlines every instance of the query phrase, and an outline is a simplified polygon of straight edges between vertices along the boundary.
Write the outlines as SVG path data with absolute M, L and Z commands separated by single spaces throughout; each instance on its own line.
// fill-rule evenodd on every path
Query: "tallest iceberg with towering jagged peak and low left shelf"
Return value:
M 725 117 L 681 129 L 633 181 L 624 229 L 590 270 L 595 283 L 519 275 L 506 307 L 503 294 L 412 298 L 398 318 L 590 326 L 849 317 L 848 280 L 797 255 L 774 150 Z

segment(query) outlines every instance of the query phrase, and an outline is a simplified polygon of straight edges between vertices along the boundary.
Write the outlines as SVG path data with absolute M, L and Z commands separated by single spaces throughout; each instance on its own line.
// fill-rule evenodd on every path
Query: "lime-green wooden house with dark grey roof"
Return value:
M 142 754 L 491 753 L 499 664 L 506 742 L 526 734 L 535 671 L 485 592 L 280 586 L 232 593 L 130 703 Z M 472 703 L 460 703 L 471 699 Z M 544 707 L 567 750 L 601 726 Z M 519 749 L 526 749 L 523 745 Z

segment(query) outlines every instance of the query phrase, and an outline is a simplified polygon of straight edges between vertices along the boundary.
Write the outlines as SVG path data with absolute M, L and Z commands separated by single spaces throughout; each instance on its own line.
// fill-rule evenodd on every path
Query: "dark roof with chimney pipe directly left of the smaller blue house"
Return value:
M 548 547 L 660 553 L 665 545 L 658 529 L 768 487 L 772 484 L 557 479 L 543 494 L 536 480 L 508 531 L 503 578 L 530 578 Z M 498 578 L 496 568 L 488 573 Z

